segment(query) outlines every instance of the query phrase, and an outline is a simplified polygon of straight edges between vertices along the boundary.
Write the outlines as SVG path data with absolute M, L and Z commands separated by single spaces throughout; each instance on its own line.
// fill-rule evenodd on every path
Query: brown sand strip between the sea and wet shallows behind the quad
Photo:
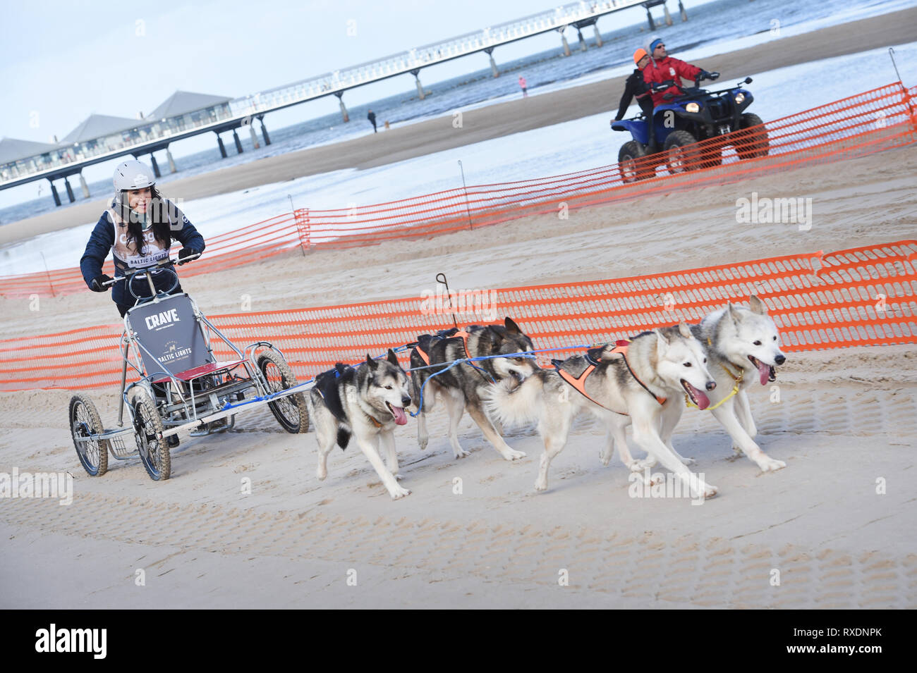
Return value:
M 843 56 L 915 39 L 917 8 L 911 8 L 826 27 L 801 36 L 772 40 L 757 47 L 704 59 L 702 65 L 709 71 L 721 72 L 723 79 L 729 81 L 749 73 Z M 877 82 L 877 85 L 882 83 L 887 82 Z M 530 96 L 525 100 L 494 104 L 463 114 L 460 129 L 453 128 L 452 116 L 446 115 L 335 145 L 304 149 L 280 157 L 266 157 L 204 175 L 176 179 L 169 183 L 166 195 L 172 198 L 181 197 L 188 201 L 338 168 L 382 166 L 482 140 L 559 124 L 590 114 L 613 111 L 623 90 L 624 78 L 614 78 L 563 91 Z M 103 210 L 105 199 L 94 199 L 17 223 L 4 224 L 0 226 L 0 245 L 39 233 L 94 222 Z

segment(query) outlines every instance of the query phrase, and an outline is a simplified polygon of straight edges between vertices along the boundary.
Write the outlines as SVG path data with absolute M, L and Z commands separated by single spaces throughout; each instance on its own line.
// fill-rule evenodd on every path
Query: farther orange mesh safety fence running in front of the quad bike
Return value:
M 915 98 L 917 87 L 908 90 L 897 82 L 623 165 L 457 188 L 370 206 L 299 209 L 208 238 L 204 256 L 183 267 L 182 276 L 250 264 L 297 247 L 305 252 L 450 233 L 526 215 L 735 182 L 803 164 L 864 157 L 917 140 Z M 0 295 L 7 297 L 84 289 L 79 269 L 0 277 Z

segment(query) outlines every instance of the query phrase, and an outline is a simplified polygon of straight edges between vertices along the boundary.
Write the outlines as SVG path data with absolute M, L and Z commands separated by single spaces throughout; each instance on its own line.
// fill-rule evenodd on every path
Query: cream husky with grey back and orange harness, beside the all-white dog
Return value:
M 687 483 L 691 494 L 703 498 L 716 494 L 716 486 L 691 472 L 671 445 L 682 396 L 703 409 L 710 405 L 707 393 L 716 388 L 701 343 L 686 323 L 645 331 L 630 342 L 554 363 L 557 371 L 539 369 L 521 383 L 504 381 L 488 391 L 488 410 L 500 422 L 538 423 L 545 452 L 536 491 L 547 489 L 547 469 L 567 444 L 573 419 L 588 411 L 608 428 L 602 451 L 606 464 L 617 446 L 624 463 L 637 472 L 639 461 L 631 457 L 624 440 L 624 428 L 633 423 L 637 445 Z

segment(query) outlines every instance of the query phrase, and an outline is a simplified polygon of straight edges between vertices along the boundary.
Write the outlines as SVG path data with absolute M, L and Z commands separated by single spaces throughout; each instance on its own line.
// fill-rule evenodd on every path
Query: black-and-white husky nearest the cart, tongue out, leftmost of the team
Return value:
M 328 453 L 336 443 L 342 450 L 347 449 L 352 435 L 392 500 L 411 494 L 397 482 L 394 438 L 395 426 L 407 423 L 404 407 L 411 404 L 410 386 L 392 349 L 386 360 L 373 360 L 367 353 L 366 362 L 356 367 L 337 363 L 334 369 L 315 376 L 309 399 L 318 440 L 320 480 L 328 475 Z M 379 456 L 380 442 L 388 468 Z

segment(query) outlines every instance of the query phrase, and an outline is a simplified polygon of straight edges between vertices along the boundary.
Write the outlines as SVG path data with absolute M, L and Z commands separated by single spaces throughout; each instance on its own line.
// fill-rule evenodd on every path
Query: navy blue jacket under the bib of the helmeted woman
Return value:
M 112 201 L 112 205 L 114 205 L 114 201 Z M 174 204 L 170 203 L 170 205 L 175 208 L 179 216 L 179 221 L 182 223 L 181 229 L 175 227 L 171 228 L 171 240 L 178 241 L 183 247 L 191 248 L 195 252 L 203 253 L 204 236 L 198 233 L 194 225 L 188 221 L 188 218 L 185 217 Z M 90 235 L 89 242 L 86 244 L 86 250 L 83 253 L 83 257 L 80 259 L 80 271 L 83 273 L 83 280 L 86 281 L 87 288 L 92 288 L 94 277 L 102 275 L 102 265 L 105 263 L 105 258 L 112 252 L 114 245 L 115 223 L 109 219 L 108 212 L 106 211 L 102 213 L 102 217 L 95 223 L 93 233 Z M 121 276 L 124 276 L 124 267 L 116 259 L 115 277 Z M 157 290 L 167 290 L 174 280 L 171 273 L 160 273 L 153 276 L 153 285 Z M 116 304 L 128 306 L 134 304 L 136 299 L 134 299 L 127 290 L 126 285 L 127 281 L 122 281 L 112 286 L 112 299 L 115 300 Z M 133 283 L 133 287 L 138 295 L 149 295 L 149 285 L 146 279 L 136 279 Z

